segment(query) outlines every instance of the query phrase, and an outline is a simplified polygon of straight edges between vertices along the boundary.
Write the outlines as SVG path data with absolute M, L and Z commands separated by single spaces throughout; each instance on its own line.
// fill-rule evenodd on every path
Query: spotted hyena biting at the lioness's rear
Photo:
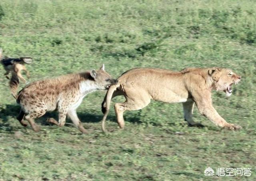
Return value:
M 12 77 L 12 80 L 15 89 L 15 85 L 18 86 L 15 84 L 15 77 Z M 64 126 L 66 115 L 68 115 L 76 128 L 86 133 L 76 114 L 76 108 L 81 104 L 86 94 L 108 89 L 110 85 L 115 85 L 117 82 L 104 71 L 104 65 L 102 65 L 98 71 L 93 69 L 92 71 L 30 83 L 17 95 L 17 103 L 21 106 L 17 119 L 23 126 L 27 126 L 24 121 L 27 120 L 32 129 L 38 132 L 40 128 L 34 119 L 43 116 L 47 111 L 58 110 L 58 122 L 54 118 L 48 118 L 48 122 Z

